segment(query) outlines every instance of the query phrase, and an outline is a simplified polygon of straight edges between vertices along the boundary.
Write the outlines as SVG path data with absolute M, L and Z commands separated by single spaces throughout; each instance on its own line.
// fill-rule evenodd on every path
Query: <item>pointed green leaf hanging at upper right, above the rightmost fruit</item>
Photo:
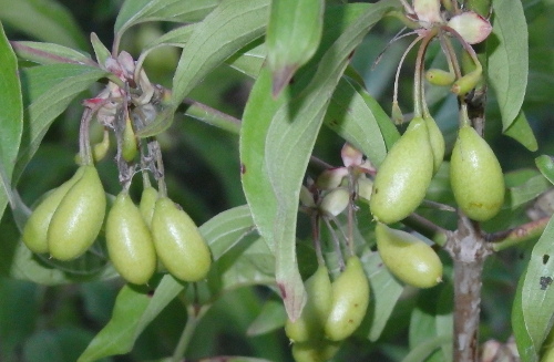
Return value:
M 493 0 L 492 7 L 488 77 L 496 94 L 505 131 L 520 113 L 527 86 L 527 24 L 520 0 Z

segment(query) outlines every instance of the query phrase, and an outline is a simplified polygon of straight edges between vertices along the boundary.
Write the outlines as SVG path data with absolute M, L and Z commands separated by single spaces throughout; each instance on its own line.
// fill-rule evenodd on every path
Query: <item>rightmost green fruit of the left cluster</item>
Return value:
M 174 277 L 183 281 L 206 277 L 212 263 L 206 241 L 191 217 L 167 197 L 156 201 L 152 237 L 160 260 Z

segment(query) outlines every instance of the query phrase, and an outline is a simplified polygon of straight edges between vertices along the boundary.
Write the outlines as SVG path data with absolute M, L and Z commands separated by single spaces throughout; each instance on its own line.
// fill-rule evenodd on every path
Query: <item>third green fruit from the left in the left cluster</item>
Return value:
M 126 192 L 117 195 L 105 226 L 110 260 L 129 282 L 146 283 L 156 269 L 156 250 L 141 211 Z

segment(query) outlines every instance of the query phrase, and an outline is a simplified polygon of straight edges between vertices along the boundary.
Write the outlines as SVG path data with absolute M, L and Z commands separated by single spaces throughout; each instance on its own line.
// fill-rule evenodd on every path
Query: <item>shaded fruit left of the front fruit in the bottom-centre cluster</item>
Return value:
M 331 310 L 331 280 L 327 268 L 320 265 L 305 283 L 308 300 L 301 316 L 296 321 L 287 320 L 285 332 L 293 342 L 307 342 L 320 339 L 324 324 Z

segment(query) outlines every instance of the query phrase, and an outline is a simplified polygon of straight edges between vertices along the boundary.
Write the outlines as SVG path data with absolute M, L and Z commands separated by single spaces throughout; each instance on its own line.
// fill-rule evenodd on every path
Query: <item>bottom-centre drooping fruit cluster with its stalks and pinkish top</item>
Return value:
M 302 187 L 300 201 L 311 215 L 314 241 L 319 267 L 305 282 L 307 302 L 300 317 L 285 324 L 287 337 L 293 343 L 293 356 L 297 362 L 322 362 L 331 359 L 341 342 L 350 337 L 362 322 L 370 300 L 369 280 L 360 259 L 353 254 L 352 240 L 345 240 L 349 256 L 342 259 L 339 237 L 331 221 L 340 228 L 339 218 L 348 210 L 355 210 L 353 200 L 369 201 L 372 182 L 367 173 L 372 166 L 363 155 L 346 144 L 341 151 L 343 167 L 324 170 L 315 183 Z M 325 220 L 334 236 L 335 252 L 341 272 L 331 281 L 322 258 L 319 240 L 319 220 Z

